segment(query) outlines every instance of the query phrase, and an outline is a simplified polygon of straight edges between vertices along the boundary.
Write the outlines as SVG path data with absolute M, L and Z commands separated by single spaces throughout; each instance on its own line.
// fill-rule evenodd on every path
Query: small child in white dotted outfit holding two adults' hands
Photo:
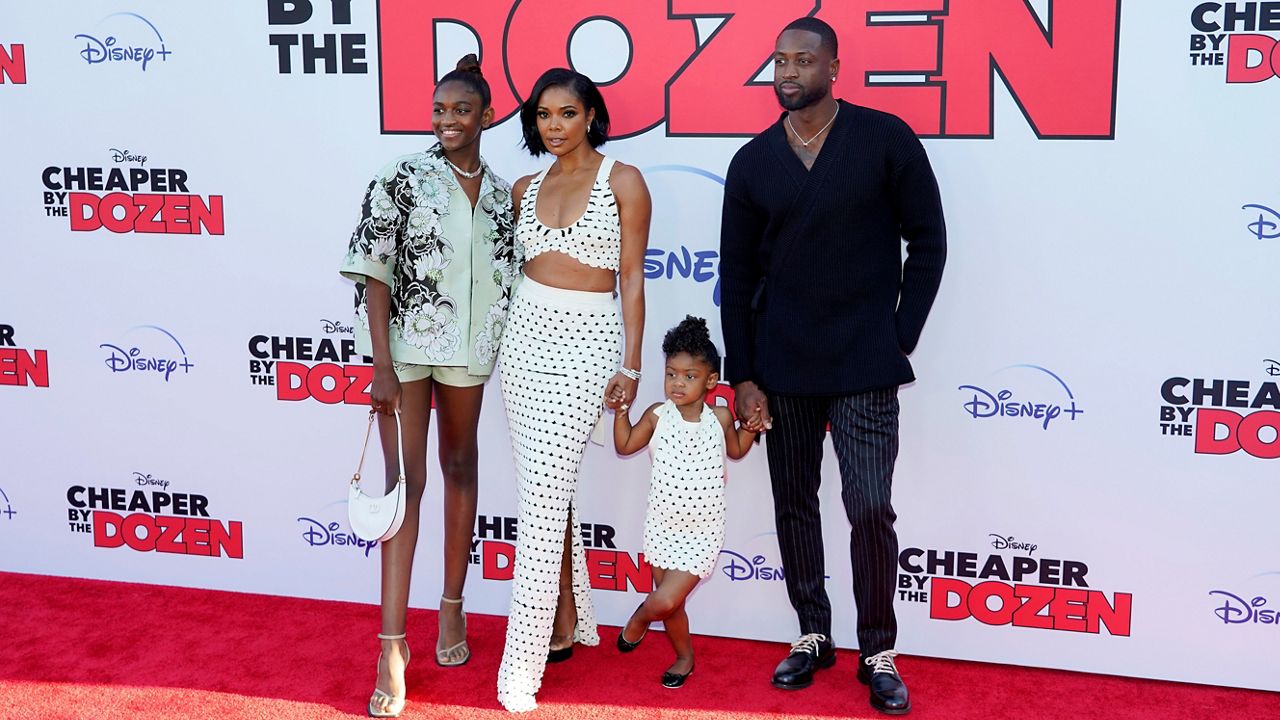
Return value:
M 631 652 L 649 624 L 662 620 L 676 661 L 662 684 L 678 688 L 694 671 L 685 600 L 712 574 L 724 543 L 724 455 L 746 455 L 760 427 L 735 429 L 727 407 L 707 405 L 719 382 L 719 352 L 707 320 L 685 318 L 662 341 L 667 356 L 666 402 L 652 405 L 631 425 L 627 406 L 613 419 L 613 443 L 622 455 L 649 446 L 653 475 L 644 519 L 644 555 L 657 587 L 618 632 L 618 650 Z M 635 638 L 628 641 L 627 637 Z

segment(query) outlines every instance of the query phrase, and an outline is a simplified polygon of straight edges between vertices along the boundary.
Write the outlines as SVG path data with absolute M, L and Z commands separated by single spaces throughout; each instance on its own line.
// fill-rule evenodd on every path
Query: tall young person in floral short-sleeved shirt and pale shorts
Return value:
M 396 482 L 396 421 L 404 432 L 404 524 L 383 543 L 381 655 L 370 715 L 404 707 L 404 616 L 426 484 L 426 433 L 435 396 L 444 474 L 444 594 L 435 661 L 466 662 L 466 580 L 476 516 L 476 425 L 518 273 L 511 186 L 480 158 L 493 122 L 474 55 L 440 79 L 438 145 L 397 158 L 369 186 L 342 274 L 356 281 L 356 348 L 374 359 L 371 388 L 388 487 Z

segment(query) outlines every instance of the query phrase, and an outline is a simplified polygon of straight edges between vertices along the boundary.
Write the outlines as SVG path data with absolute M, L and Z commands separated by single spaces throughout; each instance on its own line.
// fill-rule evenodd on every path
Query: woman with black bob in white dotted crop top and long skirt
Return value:
M 556 161 L 512 191 L 525 265 L 499 354 L 518 493 L 498 669 L 498 700 L 511 711 L 538 707 L 547 662 L 567 660 L 575 642 L 600 642 L 573 498 L 602 402 L 636 395 L 650 213 L 640 172 L 596 150 L 609 113 L 590 78 L 548 70 L 520 119 L 529 151 Z

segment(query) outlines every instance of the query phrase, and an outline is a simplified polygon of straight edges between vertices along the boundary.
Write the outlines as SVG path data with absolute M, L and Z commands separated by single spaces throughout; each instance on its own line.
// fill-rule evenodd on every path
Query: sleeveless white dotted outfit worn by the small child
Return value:
M 669 400 L 655 413 L 645 560 L 705 578 L 724 546 L 724 427 L 705 405 L 696 423 Z

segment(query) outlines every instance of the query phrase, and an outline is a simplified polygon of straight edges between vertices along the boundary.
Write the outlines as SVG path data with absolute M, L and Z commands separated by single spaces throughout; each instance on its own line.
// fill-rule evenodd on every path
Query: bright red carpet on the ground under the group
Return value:
M 355 717 L 378 657 L 367 605 L 0 573 L 0 717 Z M 809 689 L 769 687 L 783 646 L 695 638 L 698 670 L 668 691 L 660 633 L 630 656 L 579 647 L 548 667 L 540 707 L 508 715 L 494 683 L 504 619 L 470 615 L 472 660 L 436 667 L 435 614 L 410 612 L 415 660 L 404 717 L 672 719 L 883 717 L 854 679 L 856 653 Z M 900 657 L 909 717 L 1263 719 L 1280 694 L 978 662 Z

